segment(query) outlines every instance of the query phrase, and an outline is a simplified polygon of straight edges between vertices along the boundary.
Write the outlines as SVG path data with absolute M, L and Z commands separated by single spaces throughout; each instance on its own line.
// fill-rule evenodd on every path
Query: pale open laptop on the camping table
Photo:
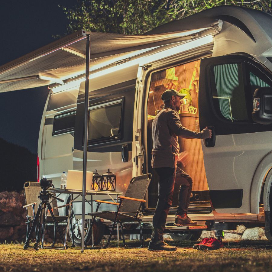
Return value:
M 92 174 L 93 172 L 87 171 L 86 190 L 92 190 Z M 82 184 L 83 184 L 83 171 L 68 170 L 66 189 L 82 191 Z

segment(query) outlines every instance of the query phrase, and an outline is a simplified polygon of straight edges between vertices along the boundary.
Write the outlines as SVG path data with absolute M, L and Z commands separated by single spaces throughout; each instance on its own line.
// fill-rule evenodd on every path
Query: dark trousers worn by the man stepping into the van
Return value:
M 177 215 L 187 212 L 193 186 L 192 178 L 179 167 L 154 168 L 159 175 L 158 202 L 153 216 L 152 243 L 163 241 L 163 233 L 169 209 L 172 205 L 175 180 L 180 185 Z

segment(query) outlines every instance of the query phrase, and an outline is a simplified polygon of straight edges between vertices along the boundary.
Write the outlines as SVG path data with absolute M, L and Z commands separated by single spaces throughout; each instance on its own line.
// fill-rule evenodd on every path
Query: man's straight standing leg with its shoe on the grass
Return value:
M 159 245 L 159 247 L 162 247 L 160 249 L 176 250 L 176 247 L 170 247 L 167 244 L 169 248 L 163 248 L 165 246 L 163 242 L 163 232 L 167 215 L 172 205 L 176 171 L 175 168 L 171 167 L 154 168 L 154 170 L 159 175 L 158 202 L 153 216 L 153 232 L 149 249 L 156 249 L 155 245 Z M 152 245 L 154 245 L 153 248 Z

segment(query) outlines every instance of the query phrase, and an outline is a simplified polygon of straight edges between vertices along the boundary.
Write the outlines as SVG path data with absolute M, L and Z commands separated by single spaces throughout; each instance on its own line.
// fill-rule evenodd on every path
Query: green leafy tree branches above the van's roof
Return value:
M 161 24 L 219 5 L 272 11 L 269 0 L 77 0 L 73 8 L 62 8 L 70 21 L 67 34 L 82 28 L 87 31 L 143 34 Z

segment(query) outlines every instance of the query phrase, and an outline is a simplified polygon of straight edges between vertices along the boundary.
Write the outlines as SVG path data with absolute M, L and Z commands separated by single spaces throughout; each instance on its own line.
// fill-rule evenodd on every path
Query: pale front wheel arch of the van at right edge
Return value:
M 268 153 L 258 164 L 255 173 L 253 175 L 253 179 L 251 182 L 251 189 L 250 189 L 250 212 L 251 213 L 259 213 L 259 203 L 261 197 L 261 190 L 262 184 L 264 179 L 267 180 L 265 187 L 264 187 L 264 207 L 267 205 L 267 187 L 270 180 L 270 185 L 272 181 L 272 152 Z M 270 178 L 268 179 L 268 175 Z M 269 195 L 268 195 L 269 200 Z M 269 202 L 269 201 L 268 201 Z M 269 206 L 269 203 L 268 203 Z M 264 208 L 264 210 L 266 210 Z

